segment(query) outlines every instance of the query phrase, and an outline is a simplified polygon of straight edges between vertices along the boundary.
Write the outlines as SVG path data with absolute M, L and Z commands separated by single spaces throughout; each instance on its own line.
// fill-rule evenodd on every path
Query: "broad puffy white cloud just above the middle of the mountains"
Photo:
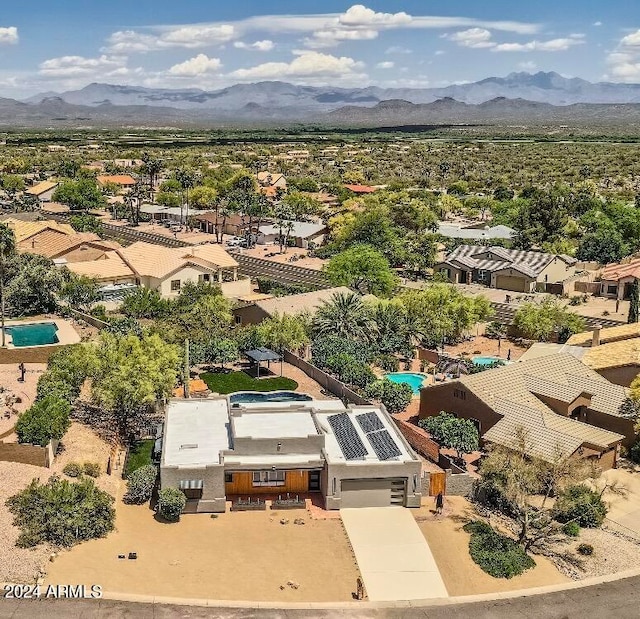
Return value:
M 291 62 L 265 62 L 249 69 L 237 69 L 228 77 L 239 80 L 331 78 L 332 81 L 366 77 L 357 73 L 364 68 L 364 64 L 353 58 L 313 51 L 294 53 L 297 55 Z

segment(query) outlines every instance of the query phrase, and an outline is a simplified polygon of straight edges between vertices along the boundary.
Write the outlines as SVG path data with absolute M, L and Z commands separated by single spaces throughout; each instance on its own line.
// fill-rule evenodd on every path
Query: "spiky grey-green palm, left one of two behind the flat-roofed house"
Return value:
M 336 292 L 325 301 L 313 319 L 318 335 L 334 335 L 349 339 L 367 339 L 371 333 L 369 308 L 354 292 Z

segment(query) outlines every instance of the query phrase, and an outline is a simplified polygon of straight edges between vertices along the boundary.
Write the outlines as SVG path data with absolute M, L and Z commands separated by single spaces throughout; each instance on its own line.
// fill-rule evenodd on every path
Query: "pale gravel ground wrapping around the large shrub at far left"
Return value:
M 35 549 L 16 548 L 15 542 L 20 533 L 13 526 L 13 516 L 5 506 L 6 500 L 24 489 L 32 479 L 46 481 L 52 474 L 62 475 L 67 462 L 99 462 L 103 474 L 96 485 L 112 495 L 116 494 L 119 478 L 117 475 L 104 474 L 110 448 L 94 432 L 79 423 L 73 423 L 62 440 L 65 450 L 60 454 L 51 469 L 30 466 L 17 462 L 0 462 L 0 582 L 32 583 L 38 571 L 45 566 L 52 549 L 40 545 Z

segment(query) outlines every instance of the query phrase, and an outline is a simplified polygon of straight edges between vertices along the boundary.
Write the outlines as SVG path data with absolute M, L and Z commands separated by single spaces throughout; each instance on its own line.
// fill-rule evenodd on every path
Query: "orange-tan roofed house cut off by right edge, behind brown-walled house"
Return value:
M 640 374 L 640 323 L 572 335 L 567 345 L 582 351 L 582 363 L 607 380 L 629 387 Z

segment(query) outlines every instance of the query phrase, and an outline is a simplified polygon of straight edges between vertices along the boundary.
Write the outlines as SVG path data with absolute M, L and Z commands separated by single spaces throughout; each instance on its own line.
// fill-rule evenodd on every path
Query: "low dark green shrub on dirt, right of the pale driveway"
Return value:
M 513 578 L 535 567 L 535 561 L 515 541 L 498 533 L 485 522 L 469 522 L 464 530 L 471 534 L 469 554 L 473 561 L 494 578 Z

